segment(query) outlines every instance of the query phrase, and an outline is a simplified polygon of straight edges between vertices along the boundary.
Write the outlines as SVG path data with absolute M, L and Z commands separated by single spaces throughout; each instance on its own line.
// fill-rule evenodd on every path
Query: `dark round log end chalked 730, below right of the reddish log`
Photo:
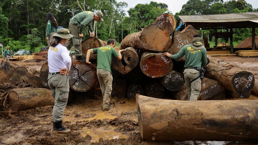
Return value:
M 161 81 L 162 85 L 170 91 L 178 91 L 184 84 L 185 79 L 182 74 L 171 71 Z

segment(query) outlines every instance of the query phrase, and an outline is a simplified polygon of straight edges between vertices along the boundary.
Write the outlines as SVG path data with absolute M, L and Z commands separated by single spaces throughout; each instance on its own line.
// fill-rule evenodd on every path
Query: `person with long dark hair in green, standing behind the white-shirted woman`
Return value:
M 46 41 L 48 42 L 48 48 L 50 46 L 50 40 L 52 35 L 56 34 L 57 32 L 57 22 L 52 13 L 48 12 L 46 15 Z

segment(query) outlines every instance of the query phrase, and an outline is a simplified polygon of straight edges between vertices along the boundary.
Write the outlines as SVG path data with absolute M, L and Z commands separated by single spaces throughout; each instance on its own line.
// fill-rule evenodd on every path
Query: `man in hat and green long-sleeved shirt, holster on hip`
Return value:
M 171 55 L 168 52 L 164 54 L 173 59 L 179 59 L 185 55 L 185 70 L 183 73 L 188 91 L 188 100 L 197 100 L 201 91 L 200 70 L 207 63 L 207 51 L 201 35 L 193 35 L 191 44 L 183 46 L 177 54 Z

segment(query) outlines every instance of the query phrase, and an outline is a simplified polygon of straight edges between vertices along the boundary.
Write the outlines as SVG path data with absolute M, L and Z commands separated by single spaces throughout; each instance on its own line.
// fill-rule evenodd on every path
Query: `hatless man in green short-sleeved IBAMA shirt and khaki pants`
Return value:
M 122 55 L 121 51 L 118 52 L 114 47 L 116 46 L 115 39 L 108 39 L 107 46 L 89 49 L 86 55 L 86 63 L 91 64 L 89 62 L 89 57 L 91 53 L 97 53 L 97 77 L 99 80 L 99 85 L 102 92 L 103 97 L 103 111 L 110 110 L 110 99 L 111 99 L 111 92 L 112 92 L 112 73 L 111 73 L 111 60 L 112 56 L 116 57 L 117 59 L 121 60 Z

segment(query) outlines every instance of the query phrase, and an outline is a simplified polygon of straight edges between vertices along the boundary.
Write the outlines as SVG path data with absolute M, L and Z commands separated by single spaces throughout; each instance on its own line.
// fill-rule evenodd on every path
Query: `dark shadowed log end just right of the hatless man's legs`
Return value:
M 126 82 L 123 80 L 113 80 L 111 97 L 124 97 L 126 96 Z

